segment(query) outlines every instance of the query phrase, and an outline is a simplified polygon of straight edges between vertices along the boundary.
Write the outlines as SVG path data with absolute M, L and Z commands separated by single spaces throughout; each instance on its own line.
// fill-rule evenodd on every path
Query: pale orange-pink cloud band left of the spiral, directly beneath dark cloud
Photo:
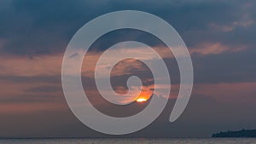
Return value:
M 61 55 L 44 55 L 33 58 L 27 56 L 1 56 L 2 76 L 50 76 L 61 73 Z

